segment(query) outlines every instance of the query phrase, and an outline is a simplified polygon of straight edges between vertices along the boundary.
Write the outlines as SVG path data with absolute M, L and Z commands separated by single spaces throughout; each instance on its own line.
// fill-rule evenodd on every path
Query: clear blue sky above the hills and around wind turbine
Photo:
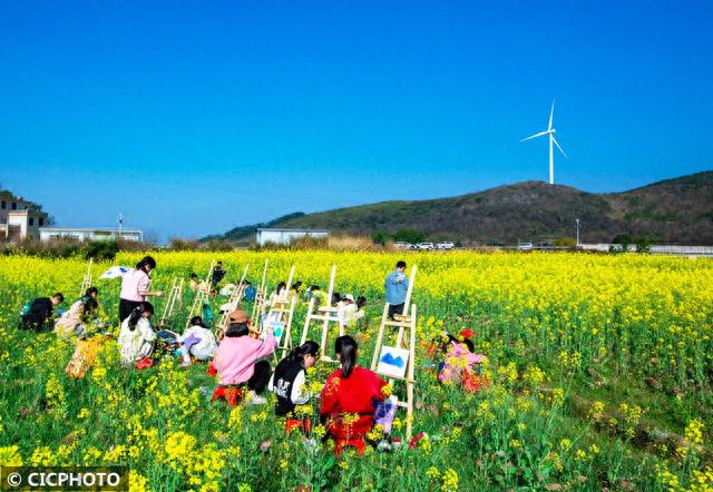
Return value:
M 588 3 L 588 6 L 585 6 Z M 0 183 L 167 238 L 713 168 L 713 4 L 3 1 Z

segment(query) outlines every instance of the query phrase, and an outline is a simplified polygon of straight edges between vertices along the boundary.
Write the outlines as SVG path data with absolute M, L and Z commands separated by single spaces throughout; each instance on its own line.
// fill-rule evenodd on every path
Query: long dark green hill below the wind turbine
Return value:
M 291 214 L 260 227 L 356 234 L 417 229 L 432 240 L 512 244 L 574 237 L 575 218 L 582 220 L 582 237 L 587 243 L 608 243 L 618 234 L 628 234 L 666 244 L 713 244 L 713 171 L 615 194 L 524 181 L 451 198 Z M 236 228 L 223 237 L 246 240 L 255 228 Z

